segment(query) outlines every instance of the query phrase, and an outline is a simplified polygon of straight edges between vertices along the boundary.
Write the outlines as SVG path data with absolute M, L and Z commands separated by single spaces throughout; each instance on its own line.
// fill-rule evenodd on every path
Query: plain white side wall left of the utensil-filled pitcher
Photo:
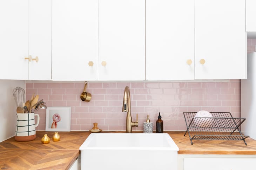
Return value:
M 0 142 L 15 135 L 16 104 L 12 91 L 18 86 L 25 90 L 25 81 L 0 80 Z

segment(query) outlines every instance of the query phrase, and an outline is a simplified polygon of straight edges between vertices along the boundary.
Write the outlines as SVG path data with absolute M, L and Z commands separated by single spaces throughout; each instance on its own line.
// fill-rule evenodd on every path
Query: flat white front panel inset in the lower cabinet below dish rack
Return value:
M 184 170 L 255 169 L 255 158 L 184 158 Z

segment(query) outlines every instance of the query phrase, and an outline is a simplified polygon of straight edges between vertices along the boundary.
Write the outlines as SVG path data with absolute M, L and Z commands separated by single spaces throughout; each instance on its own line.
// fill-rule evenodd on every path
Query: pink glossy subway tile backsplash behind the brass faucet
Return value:
M 71 106 L 71 130 L 88 131 L 97 122 L 104 131 L 125 131 L 126 112 L 122 112 L 123 91 L 130 87 L 133 120 L 139 117 L 142 131 L 147 114 L 154 123 L 161 112 L 165 131 L 185 131 L 184 111 L 222 111 L 241 117 L 241 80 L 226 82 L 88 82 L 90 102 L 80 94 L 85 83 L 26 83 L 26 99 L 39 94 L 47 106 Z M 45 109 L 38 111 L 37 130 L 45 130 Z

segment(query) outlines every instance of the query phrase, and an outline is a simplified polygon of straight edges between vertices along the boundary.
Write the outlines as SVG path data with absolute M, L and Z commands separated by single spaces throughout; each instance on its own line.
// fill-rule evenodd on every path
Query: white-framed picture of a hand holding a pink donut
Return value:
M 71 107 L 48 107 L 45 131 L 70 132 Z

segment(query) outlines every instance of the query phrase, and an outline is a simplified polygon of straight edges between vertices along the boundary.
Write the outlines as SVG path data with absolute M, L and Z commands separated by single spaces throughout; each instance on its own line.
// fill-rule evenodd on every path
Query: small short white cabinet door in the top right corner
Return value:
M 256 32 L 256 1 L 246 0 L 246 31 Z

